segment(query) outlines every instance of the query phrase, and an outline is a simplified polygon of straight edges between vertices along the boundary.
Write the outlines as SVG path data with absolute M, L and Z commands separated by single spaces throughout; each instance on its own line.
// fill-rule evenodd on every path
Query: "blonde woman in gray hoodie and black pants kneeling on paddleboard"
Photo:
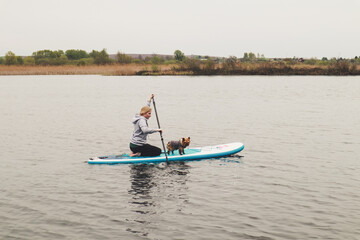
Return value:
M 146 143 L 147 135 L 155 132 L 162 132 L 161 129 L 149 128 L 147 120 L 151 117 L 150 103 L 154 94 L 151 95 L 147 106 L 144 106 L 140 110 L 140 114 L 136 114 L 132 123 L 134 124 L 134 131 L 130 140 L 130 149 L 132 153 L 130 157 L 135 156 L 159 156 L 161 149 Z

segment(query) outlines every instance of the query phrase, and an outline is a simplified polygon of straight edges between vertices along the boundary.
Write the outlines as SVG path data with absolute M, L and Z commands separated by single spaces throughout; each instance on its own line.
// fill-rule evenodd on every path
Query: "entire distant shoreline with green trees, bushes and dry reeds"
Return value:
M 216 75 L 360 75 L 360 58 L 265 58 L 244 53 L 242 58 L 171 55 L 129 56 L 106 49 L 40 50 L 32 56 L 16 56 L 9 51 L 0 57 L 0 75 L 107 75 L 107 76 L 216 76 Z

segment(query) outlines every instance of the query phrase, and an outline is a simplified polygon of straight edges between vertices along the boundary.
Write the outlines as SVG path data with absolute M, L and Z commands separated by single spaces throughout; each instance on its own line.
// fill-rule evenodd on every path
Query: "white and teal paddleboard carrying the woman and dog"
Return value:
M 244 144 L 235 142 L 216 146 L 185 148 L 185 154 L 179 151 L 167 155 L 168 161 L 194 161 L 208 158 L 226 157 L 238 153 L 244 149 Z M 128 154 L 109 155 L 103 157 L 89 158 L 89 164 L 129 164 L 129 163 L 157 163 L 166 162 L 166 156 L 162 153 L 156 157 L 130 157 Z

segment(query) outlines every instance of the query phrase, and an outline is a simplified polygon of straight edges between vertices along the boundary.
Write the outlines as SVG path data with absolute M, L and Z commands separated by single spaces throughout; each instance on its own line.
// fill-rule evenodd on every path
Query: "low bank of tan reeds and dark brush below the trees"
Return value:
M 111 64 L 26 66 L 0 65 L 0 75 L 360 75 L 360 65 L 339 62 L 331 65 L 286 65 L 278 63 L 216 64 L 186 66 L 182 64 Z

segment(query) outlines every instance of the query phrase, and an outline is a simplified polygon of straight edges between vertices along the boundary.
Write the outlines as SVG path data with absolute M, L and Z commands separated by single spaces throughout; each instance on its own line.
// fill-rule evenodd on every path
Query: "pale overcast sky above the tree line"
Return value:
M 43 49 L 360 56 L 360 0 L 0 0 L 0 56 Z

